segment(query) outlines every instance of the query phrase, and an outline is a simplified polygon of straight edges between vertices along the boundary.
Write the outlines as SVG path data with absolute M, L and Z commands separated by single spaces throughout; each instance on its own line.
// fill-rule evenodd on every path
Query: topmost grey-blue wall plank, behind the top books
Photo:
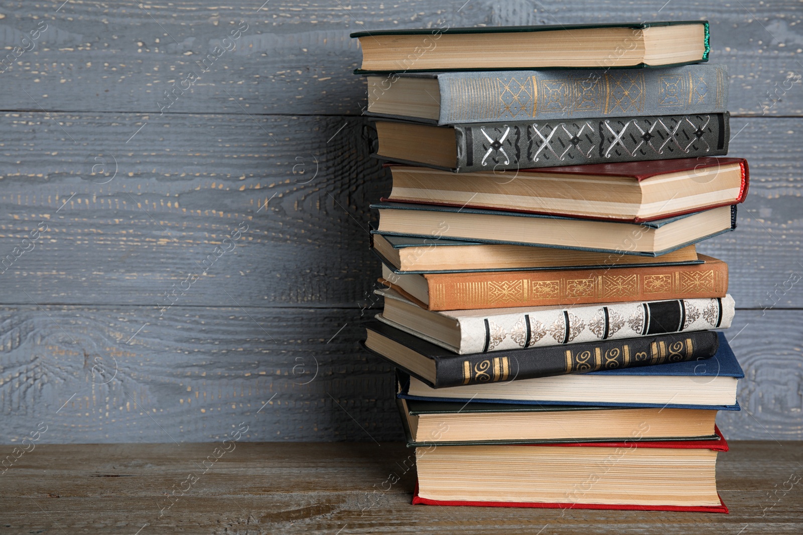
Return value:
M 360 6 L 273 0 L 261 9 L 259 2 L 221 5 L 210 0 L 142 8 L 138 2 L 113 2 L 103 9 L 68 2 L 56 12 L 61 3 L 47 2 L 35 14 L 22 4 L 4 7 L 0 44 L 6 54 L 14 47 L 30 51 L 19 55 L 22 49 L 17 48 L 14 65 L 0 72 L 6 84 L 0 109 L 153 113 L 167 102 L 164 91 L 172 91 L 172 83 L 181 87 L 194 72 L 200 79 L 191 87 L 185 83 L 187 90 L 174 99 L 169 113 L 241 113 L 242 106 L 251 114 L 359 115 L 365 86 L 352 74 L 361 61 L 357 43 L 349 39 L 352 31 L 622 18 L 614 2 L 589 5 L 582 0 L 548 8 L 525 0 L 474 0 L 464 6 L 425 0 L 372 0 Z M 803 113 L 797 2 L 743 6 L 674 0 L 662 7 L 634 0 L 625 18 L 709 19 L 711 61 L 727 63 L 732 79 L 731 110 L 743 115 Z M 40 22 L 47 30 L 34 42 L 23 42 L 31 31 L 45 27 Z M 223 43 L 238 26 L 246 28 L 239 39 Z M 229 50 L 220 48 L 214 61 L 206 59 L 216 46 Z

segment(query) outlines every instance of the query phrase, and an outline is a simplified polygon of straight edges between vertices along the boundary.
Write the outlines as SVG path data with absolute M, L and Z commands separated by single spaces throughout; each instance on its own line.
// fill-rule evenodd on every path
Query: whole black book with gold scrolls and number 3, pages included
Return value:
M 365 322 L 365 330 L 369 351 L 433 388 L 708 359 L 719 347 L 717 334 L 702 330 L 457 355 L 375 319 Z

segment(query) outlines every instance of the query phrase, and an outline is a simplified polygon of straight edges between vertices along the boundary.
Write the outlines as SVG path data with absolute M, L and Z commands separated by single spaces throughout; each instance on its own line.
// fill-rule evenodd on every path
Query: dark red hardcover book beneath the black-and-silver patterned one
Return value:
M 509 173 L 389 168 L 386 201 L 634 222 L 743 202 L 750 176 L 744 158 L 707 157 Z

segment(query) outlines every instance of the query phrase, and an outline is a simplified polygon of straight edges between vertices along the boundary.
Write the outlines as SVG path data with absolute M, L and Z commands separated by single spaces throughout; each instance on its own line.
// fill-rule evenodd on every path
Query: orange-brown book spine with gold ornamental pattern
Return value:
M 616 270 L 426 274 L 428 310 L 566 306 L 661 299 L 723 298 L 728 264 L 640 266 Z

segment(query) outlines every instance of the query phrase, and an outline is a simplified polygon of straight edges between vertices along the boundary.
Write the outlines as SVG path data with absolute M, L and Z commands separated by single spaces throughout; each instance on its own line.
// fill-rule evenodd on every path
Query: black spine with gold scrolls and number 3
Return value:
M 708 359 L 717 347 L 719 338 L 716 333 L 703 330 L 651 338 L 537 347 L 499 356 L 467 355 L 466 359 L 439 359 L 435 388 Z

